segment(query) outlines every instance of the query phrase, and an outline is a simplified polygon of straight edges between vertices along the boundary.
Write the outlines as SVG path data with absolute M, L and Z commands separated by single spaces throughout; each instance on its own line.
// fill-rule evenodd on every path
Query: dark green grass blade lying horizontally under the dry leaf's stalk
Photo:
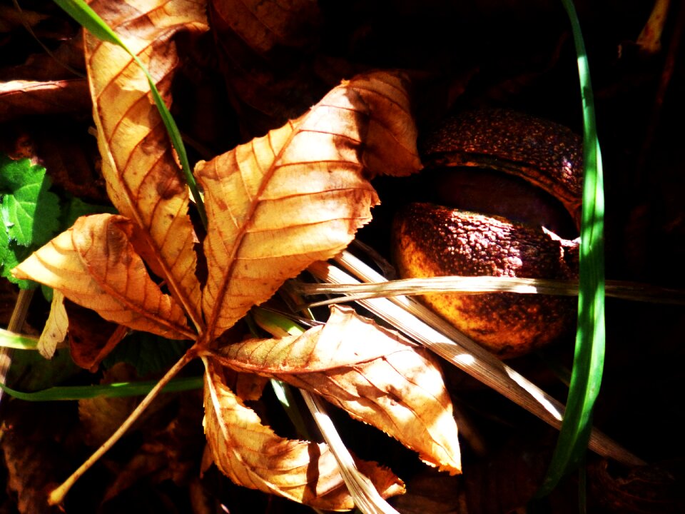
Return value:
M 157 381 L 118 382 L 102 385 L 64 385 L 34 393 L 24 393 L 0 384 L 0 388 L 13 398 L 26 401 L 83 400 L 86 398 L 123 398 L 141 396 L 149 393 Z M 203 386 L 203 377 L 174 378 L 163 389 L 163 393 L 199 389 Z

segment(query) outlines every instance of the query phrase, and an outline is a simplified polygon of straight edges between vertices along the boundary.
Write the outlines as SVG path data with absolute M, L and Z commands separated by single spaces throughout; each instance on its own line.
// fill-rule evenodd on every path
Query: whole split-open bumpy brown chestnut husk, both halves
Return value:
M 549 226 L 563 226 L 559 219 L 565 216 L 564 230 L 577 230 L 581 144 L 563 126 L 512 111 L 475 111 L 446 121 L 425 141 L 423 173 L 447 176 L 447 184 L 457 189 L 440 186 L 440 198 L 466 201 L 467 208 L 484 212 L 432 203 L 402 208 L 392 230 L 400 276 L 577 278 L 578 241 L 557 236 Z M 467 170 L 471 178 L 450 178 L 464 166 L 472 167 Z M 533 186 L 533 199 L 520 190 L 515 196 L 504 192 L 499 183 L 507 180 L 497 173 L 524 179 Z M 493 178 L 497 187 L 489 185 Z M 553 209 L 539 201 L 545 196 L 539 189 L 557 198 L 568 214 L 547 223 Z M 462 190 L 468 190 L 467 198 Z M 554 341 L 572 327 L 577 303 L 575 298 L 519 293 L 432 293 L 422 301 L 502 358 Z

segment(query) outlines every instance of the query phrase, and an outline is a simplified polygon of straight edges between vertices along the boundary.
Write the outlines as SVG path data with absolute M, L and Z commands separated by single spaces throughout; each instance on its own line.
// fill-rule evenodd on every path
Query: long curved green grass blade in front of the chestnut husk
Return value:
M 572 0 L 562 0 L 578 55 L 584 124 L 584 188 L 578 329 L 566 413 L 538 495 L 546 495 L 584 456 L 604 367 L 604 186 L 587 54 Z

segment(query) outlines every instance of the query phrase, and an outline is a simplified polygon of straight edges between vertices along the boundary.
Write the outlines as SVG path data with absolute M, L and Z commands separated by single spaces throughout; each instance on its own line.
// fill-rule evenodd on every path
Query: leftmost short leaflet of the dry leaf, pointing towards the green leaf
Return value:
M 171 339 L 193 338 L 176 301 L 152 281 L 123 216 L 83 216 L 19 266 L 18 278 L 55 288 L 108 321 Z

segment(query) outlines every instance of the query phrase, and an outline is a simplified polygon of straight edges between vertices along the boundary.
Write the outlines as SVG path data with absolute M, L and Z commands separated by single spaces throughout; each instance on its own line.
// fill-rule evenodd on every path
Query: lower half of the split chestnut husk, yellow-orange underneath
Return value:
M 577 278 L 577 241 L 499 216 L 412 203 L 393 226 L 403 278 Z M 574 298 L 518 293 L 427 294 L 422 301 L 502 358 L 544 346 L 572 326 Z

